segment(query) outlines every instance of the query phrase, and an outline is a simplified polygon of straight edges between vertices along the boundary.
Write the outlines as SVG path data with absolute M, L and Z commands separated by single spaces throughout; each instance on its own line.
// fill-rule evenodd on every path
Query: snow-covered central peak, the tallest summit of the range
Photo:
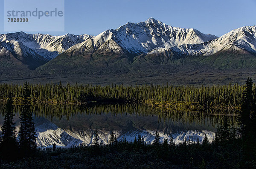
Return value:
M 145 22 L 127 23 L 118 29 L 104 31 L 91 40 L 71 47 L 67 52 L 87 52 L 88 49 L 90 52 L 109 50 L 116 54 L 143 54 L 154 49 L 203 43 L 215 38 L 214 35 L 203 34 L 196 29 L 175 28 L 149 18 Z

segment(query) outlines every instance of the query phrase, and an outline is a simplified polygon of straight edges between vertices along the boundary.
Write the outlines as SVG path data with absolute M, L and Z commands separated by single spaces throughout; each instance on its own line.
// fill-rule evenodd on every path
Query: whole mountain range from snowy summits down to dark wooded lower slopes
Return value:
M 255 68 L 256 26 L 216 37 L 149 18 L 97 36 L 0 34 L 1 83 L 243 83 Z

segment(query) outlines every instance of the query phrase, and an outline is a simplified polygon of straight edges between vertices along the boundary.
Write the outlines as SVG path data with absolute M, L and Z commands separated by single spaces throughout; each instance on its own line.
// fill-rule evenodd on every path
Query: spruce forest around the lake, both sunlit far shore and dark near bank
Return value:
M 3 92 L 2 98 L 6 100 L 5 118 L 0 134 L 0 168 L 256 168 L 256 92 L 251 78 L 246 80 L 245 86 L 201 88 L 24 83 L 23 86 L 2 85 L 0 89 Z M 74 93 L 72 98 L 67 95 L 70 90 Z M 105 93 L 107 91 L 108 94 Z M 155 95 L 146 95 L 149 91 Z M 58 92 L 62 93 L 59 94 L 60 97 L 54 95 Z M 12 99 L 18 97 L 21 98 L 21 126 L 19 133 L 16 133 Z M 153 144 L 145 144 L 140 135 L 133 142 L 128 142 L 125 138 L 117 140 L 112 132 L 109 144 L 102 145 L 95 130 L 91 146 L 81 144 L 70 149 L 57 148 L 52 152 L 51 149 L 41 150 L 35 146 L 35 126 L 30 105 L 33 99 L 53 99 L 60 103 L 67 100 L 155 99 L 160 102 L 197 101 L 206 105 L 221 104 L 219 101 L 222 100 L 225 102 L 222 104 L 240 105 L 241 111 L 237 125 L 228 123 L 228 118 L 224 117 L 222 125 L 217 127 L 212 143 L 209 143 L 207 137 L 202 143 L 183 140 L 183 143 L 175 145 L 172 137 L 160 143 L 156 131 Z

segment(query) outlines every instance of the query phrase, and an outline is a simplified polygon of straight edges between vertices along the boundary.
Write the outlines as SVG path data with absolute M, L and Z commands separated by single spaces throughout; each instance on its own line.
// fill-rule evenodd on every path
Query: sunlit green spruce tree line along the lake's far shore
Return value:
M 244 100 L 244 86 L 172 86 L 172 85 L 70 85 L 58 84 L 29 84 L 23 85 L 0 84 L 0 97 L 9 95 L 15 100 L 24 98 L 24 88 L 28 89 L 30 102 L 52 103 L 84 103 L 88 101 L 115 101 L 140 103 L 152 100 L 158 103 L 185 102 L 200 103 L 204 106 L 241 106 Z M 256 97 L 256 86 L 252 88 L 253 97 Z

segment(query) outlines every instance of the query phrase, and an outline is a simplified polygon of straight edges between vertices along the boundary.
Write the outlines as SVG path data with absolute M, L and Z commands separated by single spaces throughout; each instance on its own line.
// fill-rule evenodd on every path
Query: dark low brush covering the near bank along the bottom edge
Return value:
M 93 146 L 38 151 L 15 163 L 0 163 L 0 168 L 248 168 L 253 161 L 243 161 L 241 140 L 225 145 L 174 146 L 166 148 L 147 144 L 140 149 L 134 143 L 119 141 L 115 149 L 103 145 L 99 153 Z M 136 167 L 134 167 L 136 166 Z

